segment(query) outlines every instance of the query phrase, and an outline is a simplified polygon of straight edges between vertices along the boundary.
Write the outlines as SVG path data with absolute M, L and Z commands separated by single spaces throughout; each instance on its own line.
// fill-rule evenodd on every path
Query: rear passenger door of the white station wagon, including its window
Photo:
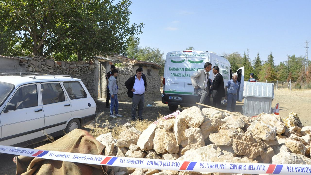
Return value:
M 61 134 L 72 114 L 69 99 L 59 82 L 41 83 L 42 106 L 44 111 L 44 134 Z

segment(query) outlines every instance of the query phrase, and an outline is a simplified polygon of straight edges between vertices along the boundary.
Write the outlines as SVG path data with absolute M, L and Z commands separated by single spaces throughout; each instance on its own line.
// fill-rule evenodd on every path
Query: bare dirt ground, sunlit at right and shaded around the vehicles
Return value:
M 90 130 L 95 127 L 96 122 L 102 126 L 106 127 L 107 124 L 109 127 L 115 125 L 123 125 L 126 122 L 131 121 L 131 107 L 132 102 L 131 98 L 119 98 L 119 114 L 123 117 L 111 118 L 109 117 L 109 108 L 105 108 L 105 99 L 100 98 L 97 103 L 98 117 L 96 121 L 93 121 L 90 125 L 85 126 L 82 129 Z M 242 106 L 244 102 L 237 102 L 236 111 L 243 113 Z M 272 108 L 280 104 L 280 116 L 285 118 L 292 111 L 296 112 L 299 116 L 300 121 L 304 126 L 311 125 L 311 90 L 308 91 L 288 91 L 288 90 L 275 90 L 274 91 L 274 100 L 272 101 Z M 152 106 L 147 107 L 146 105 L 150 104 Z M 225 109 L 225 105 L 222 105 L 222 109 Z M 186 108 L 178 108 L 182 111 Z M 168 106 L 163 104 L 161 101 L 161 95 L 157 96 L 148 96 L 145 95 L 144 102 L 144 111 L 143 118 L 149 121 L 155 121 L 160 115 L 168 115 L 172 113 L 169 111 Z M 108 122 L 107 122 L 108 121 Z M 38 145 L 37 145 L 38 146 Z M 33 147 L 32 147 L 33 148 Z M 16 174 L 16 165 L 13 163 L 12 158 L 15 155 L 11 154 L 0 154 L 0 174 L 6 175 L 15 175 Z

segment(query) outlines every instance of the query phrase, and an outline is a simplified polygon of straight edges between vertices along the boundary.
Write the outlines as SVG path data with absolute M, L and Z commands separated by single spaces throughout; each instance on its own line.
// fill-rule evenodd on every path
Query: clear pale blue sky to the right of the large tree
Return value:
M 271 51 L 277 65 L 286 55 L 305 56 L 304 41 L 311 41 L 311 0 L 132 2 L 131 22 L 144 23 L 140 46 L 159 48 L 164 57 L 188 46 L 218 55 L 249 49 L 252 61 L 257 52 L 267 61 Z

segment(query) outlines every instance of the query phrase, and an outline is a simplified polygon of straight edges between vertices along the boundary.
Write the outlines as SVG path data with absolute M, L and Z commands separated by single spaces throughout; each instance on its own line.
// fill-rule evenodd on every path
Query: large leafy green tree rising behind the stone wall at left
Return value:
M 129 23 L 132 2 L 121 0 L 0 2 L 0 38 L 18 42 L 34 55 L 76 54 L 78 59 L 94 54 L 125 50 L 130 36 L 141 34 L 143 24 Z

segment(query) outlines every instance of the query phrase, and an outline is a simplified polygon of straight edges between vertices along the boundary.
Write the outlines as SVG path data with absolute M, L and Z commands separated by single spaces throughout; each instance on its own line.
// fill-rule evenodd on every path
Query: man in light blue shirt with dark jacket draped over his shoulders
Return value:
M 125 81 L 128 89 L 128 97 L 132 98 L 132 121 L 144 120 L 142 111 L 144 109 L 144 94 L 147 87 L 146 78 L 142 77 L 142 69 L 136 69 L 136 75 Z M 138 118 L 136 118 L 136 108 L 138 106 Z

